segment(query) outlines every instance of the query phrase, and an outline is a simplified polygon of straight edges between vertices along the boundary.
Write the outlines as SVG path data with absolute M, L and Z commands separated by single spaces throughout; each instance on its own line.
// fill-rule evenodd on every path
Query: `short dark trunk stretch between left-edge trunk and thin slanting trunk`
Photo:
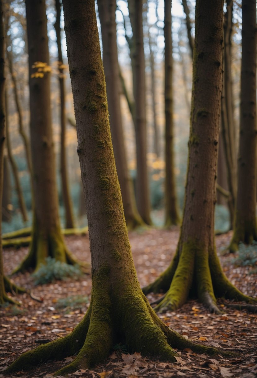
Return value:
M 3 155 L 3 197 L 2 197 L 2 221 L 11 221 L 11 180 L 8 156 Z

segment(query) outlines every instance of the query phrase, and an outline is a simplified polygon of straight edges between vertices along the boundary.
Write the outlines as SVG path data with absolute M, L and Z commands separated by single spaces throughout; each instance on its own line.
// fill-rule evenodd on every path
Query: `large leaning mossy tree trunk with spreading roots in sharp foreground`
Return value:
M 117 342 L 130 352 L 174 361 L 179 349 L 219 353 L 169 329 L 142 293 L 133 265 L 115 169 L 95 2 L 63 0 L 67 53 L 78 131 L 78 154 L 89 219 L 92 296 L 70 335 L 25 352 L 5 373 L 27 370 L 49 358 L 77 354 L 55 375 L 102 362 Z

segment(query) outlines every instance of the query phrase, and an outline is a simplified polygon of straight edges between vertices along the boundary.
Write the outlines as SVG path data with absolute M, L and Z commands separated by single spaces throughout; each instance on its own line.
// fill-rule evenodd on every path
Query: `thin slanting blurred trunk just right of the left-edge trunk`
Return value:
M 27 222 L 28 220 L 28 214 L 27 214 L 27 209 L 20 185 L 20 179 L 19 179 L 19 173 L 18 173 L 18 167 L 17 164 L 14 160 L 14 156 L 12 155 L 12 149 L 11 149 L 11 143 L 10 143 L 10 138 L 9 138 L 9 119 L 8 119 L 8 95 L 7 91 L 5 90 L 5 110 L 6 110 L 6 117 L 5 117 L 5 124 L 6 124 L 6 147 L 7 147 L 7 153 L 8 153 L 8 159 L 11 164 L 12 168 L 12 174 L 14 176 L 14 182 L 15 182 L 15 189 L 17 192 L 18 196 L 18 201 L 19 201 L 19 206 L 20 206 L 20 211 L 21 215 L 23 218 L 23 222 Z

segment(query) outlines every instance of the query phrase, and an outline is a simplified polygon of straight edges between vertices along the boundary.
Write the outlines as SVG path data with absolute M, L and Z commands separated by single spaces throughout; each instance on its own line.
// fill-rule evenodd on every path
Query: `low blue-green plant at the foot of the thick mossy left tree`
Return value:
M 78 265 L 69 265 L 46 257 L 46 263 L 41 264 L 38 270 L 32 275 L 35 285 L 43 285 L 54 280 L 64 280 L 68 277 L 78 279 L 82 271 Z

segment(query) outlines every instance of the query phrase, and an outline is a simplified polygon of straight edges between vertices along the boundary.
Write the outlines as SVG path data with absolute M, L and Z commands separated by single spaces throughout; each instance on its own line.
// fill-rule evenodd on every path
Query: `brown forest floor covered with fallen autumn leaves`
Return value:
M 149 228 L 129 233 L 138 279 L 142 286 L 152 282 L 170 263 L 179 229 L 163 230 Z M 217 251 L 228 245 L 231 232 L 216 237 Z M 90 261 L 89 237 L 66 237 L 67 245 L 78 259 Z M 4 250 L 5 273 L 9 274 L 18 265 L 28 248 Z M 231 261 L 234 256 L 220 257 L 228 278 L 244 293 L 257 296 L 257 274 L 249 274 L 249 266 L 236 267 Z M 91 279 L 84 275 L 78 280 L 67 279 L 46 285 L 34 286 L 29 274 L 14 276 L 15 283 L 33 288 L 33 294 L 43 302 L 35 302 L 27 294 L 19 296 L 20 307 L 0 307 L 0 368 L 9 365 L 18 355 L 37 346 L 38 339 L 54 340 L 73 330 L 83 318 L 89 306 Z M 68 297 L 68 300 L 67 300 Z M 158 296 L 148 296 L 150 302 Z M 222 302 L 219 302 L 222 304 Z M 93 370 L 78 370 L 70 377 L 118 378 L 118 377 L 240 377 L 257 376 L 257 314 L 226 308 L 224 313 L 208 313 L 202 304 L 191 300 L 180 310 L 159 314 L 171 328 L 202 344 L 233 350 L 240 353 L 237 358 L 211 358 L 197 355 L 191 350 L 178 352 L 177 363 L 142 359 L 140 353 L 128 355 L 113 350 L 110 357 Z M 42 363 L 30 372 L 18 372 L 19 377 L 50 377 L 51 373 L 72 361 Z M 3 375 L 0 373 L 0 377 Z

